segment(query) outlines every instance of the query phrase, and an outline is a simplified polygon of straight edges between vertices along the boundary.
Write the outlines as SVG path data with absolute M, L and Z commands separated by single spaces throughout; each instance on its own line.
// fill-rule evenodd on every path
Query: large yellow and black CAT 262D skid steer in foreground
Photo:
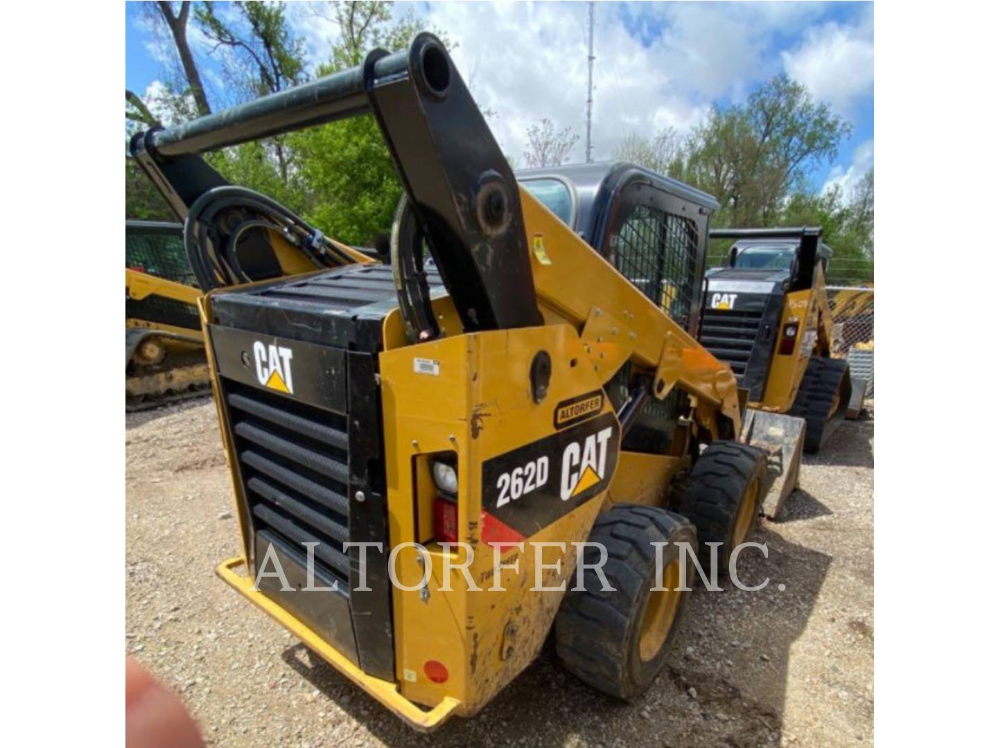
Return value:
M 390 266 L 198 156 L 366 113 L 404 187 Z M 132 151 L 215 289 L 200 306 L 242 540 L 220 576 L 417 729 L 479 711 L 549 633 L 594 687 L 643 692 L 689 594 L 677 544 L 730 562 L 763 456 L 737 441 L 731 369 L 518 187 L 439 40 Z M 668 213 L 702 267 L 716 203 L 669 190 L 629 209 Z M 275 277 L 289 247 L 323 269 Z M 631 449 L 648 412 L 664 438 Z

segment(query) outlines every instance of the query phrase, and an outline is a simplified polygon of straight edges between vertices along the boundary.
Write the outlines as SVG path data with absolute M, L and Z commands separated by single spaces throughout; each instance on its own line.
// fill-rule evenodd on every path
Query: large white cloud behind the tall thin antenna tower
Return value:
M 609 159 L 631 131 L 690 130 L 706 114 L 708 97 L 723 88 L 722 73 L 703 72 L 707 45 L 690 43 L 702 30 L 690 10 L 680 12 L 668 38 L 649 46 L 632 36 L 619 10 L 596 6 L 596 159 Z M 586 4 L 434 3 L 426 19 L 458 43 L 458 70 L 479 105 L 496 113 L 489 124 L 507 154 L 522 161 L 527 128 L 547 117 L 579 134 L 573 160 L 585 158 Z M 645 24 L 646 32 L 669 29 L 658 17 L 636 23 Z M 695 70 L 702 72 L 691 75 Z

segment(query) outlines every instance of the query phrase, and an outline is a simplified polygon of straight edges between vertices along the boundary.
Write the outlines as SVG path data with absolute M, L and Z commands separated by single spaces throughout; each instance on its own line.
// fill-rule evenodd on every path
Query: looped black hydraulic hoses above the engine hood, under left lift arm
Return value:
M 247 187 L 215 187 L 195 200 L 184 221 L 184 246 L 202 290 L 261 279 L 244 270 L 239 256 L 240 241 L 252 229 L 280 235 L 316 268 L 355 261 L 317 228 L 266 195 Z

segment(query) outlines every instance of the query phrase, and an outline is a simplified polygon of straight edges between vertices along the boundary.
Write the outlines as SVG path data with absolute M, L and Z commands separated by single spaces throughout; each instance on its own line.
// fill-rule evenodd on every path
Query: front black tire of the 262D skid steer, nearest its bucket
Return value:
M 711 548 L 706 544 L 724 544 L 718 549 L 718 561 L 721 570 L 727 570 L 735 550 L 732 537 L 739 510 L 749 486 L 757 481 L 756 512 L 746 538 L 751 535 L 764 499 L 764 476 L 765 453 L 757 447 L 738 442 L 712 442 L 690 471 L 690 480 L 681 502 L 682 513 L 697 528 L 700 560 L 709 574 L 707 563 L 711 561 Z

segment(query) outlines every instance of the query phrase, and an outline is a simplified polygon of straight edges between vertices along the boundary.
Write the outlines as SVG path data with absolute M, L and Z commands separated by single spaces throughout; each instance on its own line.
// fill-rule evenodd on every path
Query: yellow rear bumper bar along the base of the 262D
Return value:
M 396 716 L 405 721 L 410 727 L 419 732 L 432 732 L 446 722 L 461 705 L 458 699 L 445 696 L 431 710 L 424 711 L 399 693 L 395 683 L 368 675 L 300 620 L 258 589 L 253 589 L 252 579 L 237 572 L 237 569 L 246 565 L 246 559 L 240 556 L 229 561 L 223 561 L 216 568 L 215 572 L 223 581 L 294 634 L 305 646 L 360 686 L 367 694 L 394 712 Z

